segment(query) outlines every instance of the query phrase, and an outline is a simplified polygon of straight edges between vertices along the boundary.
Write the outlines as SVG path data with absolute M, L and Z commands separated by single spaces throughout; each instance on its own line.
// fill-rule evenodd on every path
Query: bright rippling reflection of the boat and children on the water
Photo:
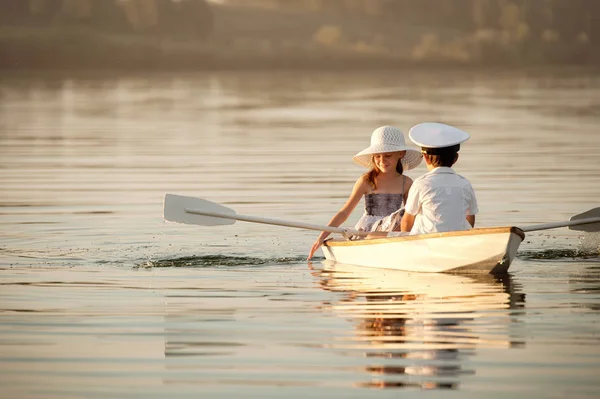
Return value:
M 344 264 L 316 271 L 321 286 L 344 293 L 328 304 L 355 332 L 335 348 L 372 359 L 365 387 L 456 389 L 474 374 L 478 348 L 513 348 L 519 341 L 518 309 L 510 275 L 408 273 Z M 470 363 L 471 366 L 466 365 Z

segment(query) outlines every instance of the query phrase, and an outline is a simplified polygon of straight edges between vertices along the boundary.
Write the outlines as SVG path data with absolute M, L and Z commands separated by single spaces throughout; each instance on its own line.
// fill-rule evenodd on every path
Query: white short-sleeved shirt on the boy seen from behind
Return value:
M 415 215 L 410 234 L 469 230 L 467 215 L 479 212 L 471 183 L 452 168 L 439 167 L 415 179 L 406 213 Z

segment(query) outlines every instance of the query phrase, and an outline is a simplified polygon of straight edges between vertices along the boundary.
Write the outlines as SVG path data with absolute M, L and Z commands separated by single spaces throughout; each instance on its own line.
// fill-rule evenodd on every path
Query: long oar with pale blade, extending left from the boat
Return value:
M 234 224 L 236 220 L 252 223 L 272 224 L 276 226 L 295 227 L 298 229 L 327 231 L 342 234 L 344 237 L 356 235 L 366 237 L 367 232 L 345 229 L 341 227 L 321 226 L 317 224 L 269 219 L 257 216 L 238 215 L 233 209 L 201 198 L 166 194 L 164 218 L 169 222 L 197 224 L 200 226 L 219 226 Z

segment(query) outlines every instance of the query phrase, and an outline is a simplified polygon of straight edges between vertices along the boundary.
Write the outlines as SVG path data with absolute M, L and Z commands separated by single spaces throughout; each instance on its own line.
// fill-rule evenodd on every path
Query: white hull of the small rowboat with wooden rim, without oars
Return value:
M 349 265 L 431 273 L 508 271 L 525 233 L 517 227 L 480 228 L 447 233 L 369 240 L 329 240 L 325 258 Z

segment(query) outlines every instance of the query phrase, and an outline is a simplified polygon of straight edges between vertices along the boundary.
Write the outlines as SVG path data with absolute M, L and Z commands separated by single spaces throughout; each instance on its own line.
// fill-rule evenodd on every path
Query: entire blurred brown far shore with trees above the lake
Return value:
M 600 0 L 221 2 L 0 0 L 0 67 L 600 62 Z

